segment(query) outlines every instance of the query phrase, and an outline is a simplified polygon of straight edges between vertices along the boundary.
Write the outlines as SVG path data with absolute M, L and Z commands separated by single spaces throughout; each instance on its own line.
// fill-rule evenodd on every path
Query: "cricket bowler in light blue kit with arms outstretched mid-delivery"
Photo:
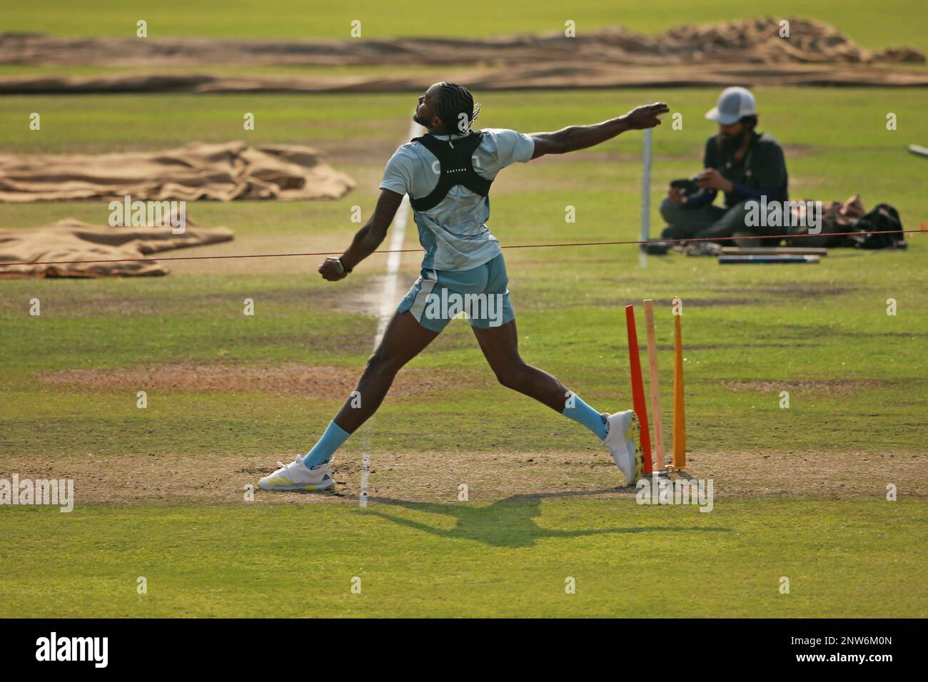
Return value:
M 530 135 L 506 129 L 474 131 L 471 126 L 479 111 L 462 85 L 436 83 L 426 90 L 419 97 L 413 120 L 428 132 L 396 150 L 384 170 L 380 198 L 367 224 L 341 257 L 327 258 L 319 265 L 319 274 L 330 282 L 348 277 L 378 249 L 404 195 L 409 195 L 419 243 L 425 250 L 421 274 L 367 360 L 356 389 L 360 404 L 349 396 L 306 455 L 290 464 L 278 462 L 280 469 L 260 480 L 263 490 L 331 487 L 331 457 L 377 411 L 400 368 L 462 311 L 503 386 L 535 398 L 592 431 L 612 454 L 625 484 L 634 484 L 642 475 L 644 460 L 633 410 L 600 413 L 560 380 L 522 360 L 506 262 L 486 223 L 490 187 L 496 174 L 510 164 L 566 154 L 629 130 L 653 128 L 669 109 L 664 103 L 650 104 L 609 121 Z

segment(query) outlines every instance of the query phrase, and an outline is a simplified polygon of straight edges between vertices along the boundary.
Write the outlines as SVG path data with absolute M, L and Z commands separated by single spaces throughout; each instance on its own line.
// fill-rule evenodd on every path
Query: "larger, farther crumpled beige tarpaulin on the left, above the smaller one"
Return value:
M 337 199 L 346 174 L 297 145 L 191 142 L 114 154 L 0 153 L 0 202 L 67 199 Z

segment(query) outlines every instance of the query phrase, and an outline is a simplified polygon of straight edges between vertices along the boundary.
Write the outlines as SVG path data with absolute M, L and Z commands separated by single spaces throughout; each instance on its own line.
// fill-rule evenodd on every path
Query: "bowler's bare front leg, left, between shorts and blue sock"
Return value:
M 357 383 L 361 405 L 353 407 L 348 398 L 333 419 L 344 431 L 354 433 L 373 415 L 390 390 L 393 377 L 438 336 L 437 331 L 422 327 L 410 313 L 394 313 L 383 333 L 383 340 L 367 359 L 367 367 Z

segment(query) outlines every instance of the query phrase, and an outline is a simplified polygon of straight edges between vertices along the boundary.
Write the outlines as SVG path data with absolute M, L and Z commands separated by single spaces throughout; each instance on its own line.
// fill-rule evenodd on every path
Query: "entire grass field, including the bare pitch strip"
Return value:
M 924 40 L 917 22 L 899 20 L 923 11 L 914 3 L 885 4 L 885 25 L 868 25 L 854 4 L 782 5 L 834 17 L 864 45 Z M 55 26 L 30 6 L 5 6 L 0 19 L 16 30 L 116 34 L 138 14 L 97 6 L 98 15 Z M 169 2 L 147 13 L 149 22 L 171 19 L 173 34 L 297 37 L 336 35 L 322 25 L 354 10 L 324 9 L 303 24 L 234 6 L 212 23 L 200 19 L 213 6 L 178 15 Z M 595 6 L 581 4 L 575 19 L 656 31 L 714 18 L 713 4 L 704 13 L 695 3 L 622 8 L 614 19 Z M 396 9 L 361 9 L 382 19 L 374 32 L 428 32 Z M 562 21 L 553 5 L 538 10 L 520 13 L 528 23 L 518 30 Z M 517 30 L 511 9 L 473 16 L 443 28 Z M 716 95 L 475 93 L 482 126 L 526 132 L 667 101 L 684 127 L 654 135 L 652 216 L 660 188 L 698 169 L 713 133 L 702 114 Z M 928 221 L 917 181 L 925 160 L 905 151 L 928 140 L 928 92 L 756 95 L 761 128 L 786 148 L 794 199 L 860 193 L 868 207 L 896 206 L 906 228 Z M 198 225 L 226 225 L 236 238 L 179 255 L 341 251 L 357 227 L 351 207 L 367 217 L 413 100 L 3 97 L 0 152 L 311 144 L 354 177 L 354 192 L 190 205 Z M 42 113 L 40 133 L 28 129 L 32 111 Z M 241 130 L 245 111 L 256 115 L 254 132 Z M 887 111 L 898 130 L 885 129 Z M 494 234 L 504 246 L 636 238 L 640 148 L 629 133 L 504 171 L 493 187 Z M 567 205 L 575 224 L 564 222 Z M 103 225 L 108 213 L 104 202 L 0 204 L 0 227 L 67 216 Z M 417 245 L 413 232 L 407 248 Z M 244 486 L 308 449 L 354 388 L 377 328 L 383 256 L 338 284 L 321 281 L 316 259 L 305 258 L 176 262 L 158 278 L 0 280 L 0 479 L 72 478 L 76 494 L 69 514 L 0 506 L 0 617 L 924 617 L 928 237 L 910 237 L 905 252 L 832 251 L 821 264 L 789 267 L 672 255 L 641 270 L 627 246 L 506 251 L 522 355 L 599 409 L 630 403 L 622 306 L 658 302 L 667 440 L 668 308 L 683 299 L 690 473 L 714 481 L 711 513 L 636 505 L 586 430 L 496 383 L 461 320 L 403 370 L 377 417 L 338 453 L 336 493 L 245 501 Z M 404 255 L 396 300 L 418 265 Z M 42 302 L 38 317 L 28 314 L 32 298 Z M 245 298 L 253 317 L 242 315 Z M 886 315 L 889 298 L 895 316 Z M 148 408 L 138 409 L 143 390 Z M 373 456 L 366 509 L 357 505 L 362 452 Z M 460 483 L 469 501 L 458 501 Z M 886 500 L 888 484 L 898 501 Z M 146 595 L 136 593 L 139 576 Z M 355 576 L 361 594 L 351 592 Z M 790 594 L 780 594 L 783 576 Z M 576 594 L 565 594 L 568 577 Z M 301 599 L 278 603 L 294 581 Z

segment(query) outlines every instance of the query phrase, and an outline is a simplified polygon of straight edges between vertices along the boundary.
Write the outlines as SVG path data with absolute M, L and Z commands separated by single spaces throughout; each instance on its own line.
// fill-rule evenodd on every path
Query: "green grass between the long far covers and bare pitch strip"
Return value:
M 904 142 L 928 138 L 928 122 L 920 115 L 928 94 L 886 90 L 874 97 L 873 92 L 817 91 L 815 109 L 806 106 L 813 96 L 806 90 L 761 90 L 758 97 L 765 127 L 795 149 L 793 154 L 788 151 L 793 197 L 844 199 L 859 191 L 869 206 L 878 201 L 896 206 L 905 226 L 912 228 L 928 218 L 928 207 L 918 188 L 900 179 L 917 177 L 924 161 L 905 153 Z M 654 185 L 662 187 L 698 167 L 705 136 L 711 132 L 701 114 L 714 96 L 702 90 L 652 95 L 666 98 L 684 115 L 683 130 L 668 127 L 655 135 Z M 538 93 L 531 96 L 533 106 L 526 108 L 525 97 L 499 93 L 486 97 L 485 124 L 521 130 L 558 128 L 606 118 L 635 102 L 634 94 Z M 11 122 L 17 109 L 32 104 L 23 99 L 7 97 L 0 122 Z M 3 125 L 0 145 L 19 151 L 74 151 L 88 146 L 159 148 L 186 139 L 221 141 L 228 138 L 226 131 L 211 122 L 231 117 L 236 107 L 253 104 L 238 99 L 43 97 L 40 108 L 47 112 L 46 120 L 55 121 L 51 129 L 31 136 Z M 190 207 L 190 215 L 200 225 L 228 225 L 236 232 L 237 240 L 222 252 L 286 251 L 268 239 L 297 239 L 287 242 L 297 251 L 314 251 L 311 245 L 317 239 L 327 240 L 329 248 L 342 248 L 356 227 L 346 220 L 350 207 L 359 204 L 369 211 L 380 165 L 406 127 L 408 97 L 375 96 L 366 100 L 367 106 L 355 106 L 363 99 L 262 97 L 264 109 L 273 115 L 262 119 L 256 141 L 309 139 L 337 149 L 355 135 L 354 144 L 364 140 L 385 145 L 382 158 L 371 154 L 370 161 L 355 160 L 351 167 L 353 174 L 357 170 L 370 178 L 367 184 L 337 201 L 200 202 Z M 896 111 L 904 130 L 884 130 L 884 109 Z M 822 116 L 822 111 L 828 115 Z M 146 134 L 122 144 L 120 138 L 129 127 L 121 123 L 123 118 L 135 120 L 132 125 Z M 330 125 L 321 128 L 326 121 Z M 95 141 L 91 144 L 89 139 Z M 507 170 L 494 186 L 491 226 L 504 244 L 634 238 L 639 145 L 640 136 L 629 134 L 602 150 Z M 333 162 L 342 167 L 338 158 Z M 656 191 L 652 199 L 656 222 Z M 563 207 L 568 204 L 577 209 L 573 225 L 563 223 Z M 97 202 L 22 204 L 0 210 L 6 225 L 22 227 L 65 215 L 96 223 L 106 217 L 105 205 Z M 908 252 L 835 251 L 821 264 L 801 270 L 726 268 L 712 259 L 675 256 L 652 258 L 649 269 L 640 271 L 637 253 L 628 247 L 508 251 L 523 355 L 596 404 L 625 400 L 621 306 L 648 296 L 667 302 L 679 295 L 687 302 L 688 414 L 693 423 L 702 425 L 690 438 L 694 448 L 759 448 L 792 430 L 804 433 L 794 444 L 798 449 L 834 447 L 836 439 L 848 448 L 867 444 L 889 450 L 918 448 L 923 443 L 918 425 L 928 393 L 920 350 L 928 336 L 928 296 L 921 286 L 926 257 L 922 237 L 910 241 Z M 415 236 L 409 234 L 407 244 L 414 243 Z M 406 258 L 405 264 L 406 272 L 415 270 L 414 258 Z M 210 269 L 220 266 L 197 262 L 187 266 L 183 277 L 145 280 L 4 283 L 0 320 L 8 331 L 10 363 L 0 405 L 15 425 L 6 436 L 10 452 L 47 448 L 42 431 L 29 428 L 36 415 L 54 421 L 57 429 L 75 431 L 72 443 L 96 444 L 99 451 L 112 454 L 127 448 L 148 452 L 159 444 L 189 452 L 206 448 L 260 452 L 268 438 L 300 444 L 307 422 L 328 420 L 341 395 L 309 405 L 299 396 L 282 396 L 274 404 L 280 418 L 264 421 L 267 416 L 258 408 L 259 425 L 242 437 L 228 428 L 241 405 L 228 402 L 224 394 L 177 395 L 172 408 L 165 407 L 159 418 L 139 419 L 135 391 L 127 390 L 81 395 L 74 419 L 99 412 L 102 421 L 97 430 L 76 432 L 74 423 L 61 416 L 72 394 L 36 384 L 43 371 L 133 367 L 139 362 L 363 365 L 374 321 L 350 312 L 332 313 L 329 308 L 341 293 L 366 290 L 368 277 L 382 271 L 382 257 L 372 259 L 337 287 L 310 277 L 312 264 L 306 259 L 281 259 L 274 264 L 282 268 L 279 274 L 228 276 Z M 43 302 L 44 314 L 24 318 L 33 296 Z M 257 302 L 259 314 L 254 318 L 241 315 L 246 297 Z M 898 315 L 885 315 L 888 298 L 896 299 Z M 659 317 L 657 330 L 659 341 L 669 348 L 669 316 Z M 565 347 L 576 352 L 565 354 Z M 220 351 L 225 352 L 222 358 Z M 662 366 L 669 385 L 666 351 Z M 441 429 L 441 424 L 462 406 L 466 414 L 484 422 L 504 424 L 514 416 L 535 424 L 534 437 L 488 430 L 476 434 L 478 444 L 545 451 L 576 442 L 578 431 L 564 430 L 558 420 L 548 419 L 546 408 L 496 387 L 465 325 L 449 328 L 411 367 L 430 368 L 439 375 L 455 367 L 474 379 L 461 386 L 453 400 L 388 400 L 379 428 L 396 430 L 391 432 L 396 446 L 410 451 L 453 446 L 458 434 Z M 778 406 L 781 390 L 791 392 L 790 410 Z M 494 395 L 490 405 L 487 391 Z M 174 410 L 178 404 L 184 409 Z M 102 412 L 108 415 L 105 420 Z M 861 413 L 869 418 L 861 420 Z M 415 415 L 417 426 L 406 428 L 404 415 Z M 875 441 L 870 419 L 882 425 Z M 423 444 L 419 428 L 436 435 Z M 125 433 L 133 436 L 129 444 Z

